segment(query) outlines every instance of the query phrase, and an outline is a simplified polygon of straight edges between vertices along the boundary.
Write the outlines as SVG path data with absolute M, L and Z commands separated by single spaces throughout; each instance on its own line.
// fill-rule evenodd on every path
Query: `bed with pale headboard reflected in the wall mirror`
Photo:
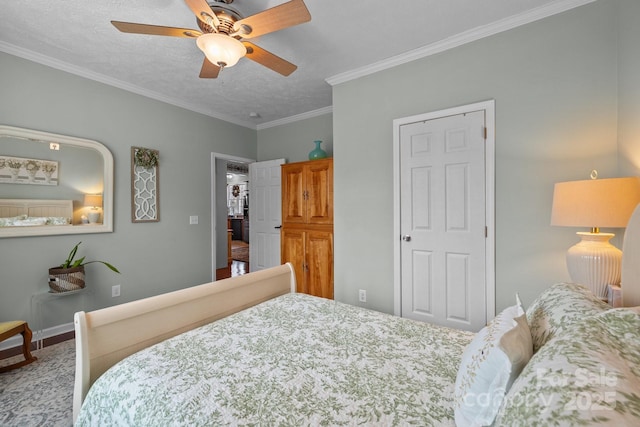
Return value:
M 0 199 L 0 228 L 68 226 L 72 200 Z

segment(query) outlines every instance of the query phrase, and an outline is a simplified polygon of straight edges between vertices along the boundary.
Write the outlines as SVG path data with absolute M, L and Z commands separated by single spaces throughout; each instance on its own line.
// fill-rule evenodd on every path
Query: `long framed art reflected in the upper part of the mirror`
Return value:
M 0 182 L 58 185 L 58 162 L 0 156 Z

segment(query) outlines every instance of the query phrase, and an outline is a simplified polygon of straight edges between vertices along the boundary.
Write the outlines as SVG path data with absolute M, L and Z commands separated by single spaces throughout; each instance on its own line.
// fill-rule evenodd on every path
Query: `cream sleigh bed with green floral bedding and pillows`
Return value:
M 581 285 L 477 334 L 294 290 L 285 264 L 76 313 L 76 425 L 640 423 L 640 310 Z

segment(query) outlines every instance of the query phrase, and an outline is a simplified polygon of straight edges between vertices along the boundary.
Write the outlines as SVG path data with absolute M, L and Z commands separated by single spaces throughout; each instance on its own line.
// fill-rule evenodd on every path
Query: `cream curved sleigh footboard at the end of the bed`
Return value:
M 73 419 L 89 388 L 125 357 L 263 301 L 295 292 L 291 264 L 74 316 Z

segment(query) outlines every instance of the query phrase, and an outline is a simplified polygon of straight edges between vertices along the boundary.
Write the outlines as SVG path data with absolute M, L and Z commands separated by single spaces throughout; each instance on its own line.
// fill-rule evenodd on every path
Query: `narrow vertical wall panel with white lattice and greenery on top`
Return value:
M 160 152 L 131 147 L 131 222 L 160 221 Z

